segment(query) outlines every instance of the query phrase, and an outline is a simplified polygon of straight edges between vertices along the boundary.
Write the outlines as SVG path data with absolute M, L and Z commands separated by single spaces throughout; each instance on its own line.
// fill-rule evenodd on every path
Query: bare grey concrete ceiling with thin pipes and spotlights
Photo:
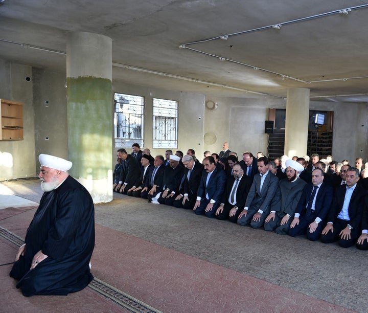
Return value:
M 368 1 L 0 3 L 5 60 L 65 72 L 66 34 L 85 31 L 112 38 L 114 80 L 227 97 L 284 98 L 301 87 L 313 100 L 368 102 Z

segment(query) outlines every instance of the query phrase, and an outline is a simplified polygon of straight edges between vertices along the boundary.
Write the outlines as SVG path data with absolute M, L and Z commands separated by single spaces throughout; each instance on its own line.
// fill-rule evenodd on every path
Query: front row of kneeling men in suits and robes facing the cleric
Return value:
M 141 168 L 131 155 L 124 157 L 115 191 L 242 226 L 290 236 L 306 234 L 325 243 L 338 240 L 346 248 L 356 243 L 368 250 L 368 196 L 357 184 L 359 170 L 354 167 L 348 168 L 344 184 L 334 191 L 324 183 L 325 173 L 319 168 L 312 171 L 312 183 L 303 181 L 299 174 L 304 167 L 293 160 L 287 161 L 286 178 L 279 181 L 268 169 L 266 157 L 257 160 L 259 173 L 254 176 L 244 172 L 243 164 L 235 164 L 232 175 L 226 176 L 213 157 L 201 164 L 191 155 L 182 159 L 170 155 L 165 165 L 162 155 L 153 164 L 143 155 Z

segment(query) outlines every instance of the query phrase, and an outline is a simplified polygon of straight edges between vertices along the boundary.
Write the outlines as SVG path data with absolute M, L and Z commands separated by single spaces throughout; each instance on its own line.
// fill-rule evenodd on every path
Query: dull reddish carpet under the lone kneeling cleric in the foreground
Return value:
M 0 257 L 2 264 L 14 258 L 34 210 L 14 213 L 9 216 L 4 210 L 0 212 L 0 241 L 5 252 Z M 91 262 L 96 279 L 88 288 L 67 297 L 25 298 L 14 287 L 14 280 L 7 276 L 11 265 L 0 266 L 4 278 L 0 301 L 6 303 L 3 309 L 17 312 L 349 311 L 98 224 Z M 86 307 L 92 304 L 93 308 Z

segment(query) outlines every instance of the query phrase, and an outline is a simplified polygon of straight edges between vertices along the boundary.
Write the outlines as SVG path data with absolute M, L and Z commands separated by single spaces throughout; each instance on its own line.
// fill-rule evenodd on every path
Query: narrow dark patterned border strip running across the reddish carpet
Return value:
M 20 247 L 24 243 L 24 239 L 10 232 L 4 227 L 0 226 L 0 237 L 10 241 L 17 247 Z M 124 307 L 130 312 L 147 312 L 147 313 L 162 313 L 154 307 L 124 293 L 122 290 L 115 288 L 114 286 L 104 282 L 101 279 L 95 277 L 88 285 L 88 287 L 94 290 L 97 294 L 109 299 L 115 304 Z

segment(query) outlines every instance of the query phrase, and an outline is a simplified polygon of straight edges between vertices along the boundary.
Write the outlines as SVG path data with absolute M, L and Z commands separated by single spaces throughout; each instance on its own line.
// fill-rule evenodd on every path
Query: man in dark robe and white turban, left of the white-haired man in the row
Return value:
M 184 174 L 184 168 L 179 162 L 180 158 L 177 155 L 170 155 L 170 164 L 166 166 L 164 172 L 162 190 L 152 197 L 152 203 L 156 203 L 157 201 L 157 203 L 172 206 L 175 200 L 174 196 L 179 190 L 181 178 Z

